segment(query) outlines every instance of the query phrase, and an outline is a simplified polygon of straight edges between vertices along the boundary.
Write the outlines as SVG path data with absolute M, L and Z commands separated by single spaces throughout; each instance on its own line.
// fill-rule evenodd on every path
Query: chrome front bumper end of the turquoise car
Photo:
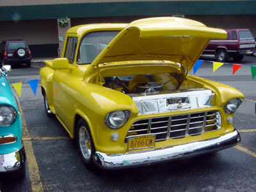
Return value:
M 10 154 L 0 154 L 0 172 L 12 172 L 24 166 L 26 154 L 24 146 Z

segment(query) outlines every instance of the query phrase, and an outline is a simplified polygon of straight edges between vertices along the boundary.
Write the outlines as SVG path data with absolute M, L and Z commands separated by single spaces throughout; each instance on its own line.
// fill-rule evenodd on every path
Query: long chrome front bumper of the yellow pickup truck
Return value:
M 240 134 L 235 130 L 234 132 L 211 140 L 196 141 L 194 143 L 159 148 L 145 152 L 127 152 L 125 154 L 104 154 L 102 152 L 95 152 L 93 160 L 97 166 L 107 170 L 143 166 L 214 152 L 232 147 L 236 145 L 236 143 L 239 143 L 240 140 Z

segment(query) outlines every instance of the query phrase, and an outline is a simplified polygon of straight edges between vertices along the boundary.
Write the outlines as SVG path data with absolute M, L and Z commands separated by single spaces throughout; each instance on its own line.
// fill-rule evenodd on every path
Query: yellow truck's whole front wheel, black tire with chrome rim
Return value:
M 76 129 L 76 141 L 79 153 L 82 156 L 84 164 L 88 168 L 93 168 L 93 154 L 95 153 L 95 147 L 92 140 L 90 129 L 86 122 L 81 118 L 77 122 Z

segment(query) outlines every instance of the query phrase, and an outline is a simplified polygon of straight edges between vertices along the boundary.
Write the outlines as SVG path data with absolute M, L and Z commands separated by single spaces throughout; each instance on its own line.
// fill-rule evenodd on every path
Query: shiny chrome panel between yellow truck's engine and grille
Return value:
M 177 110 L 211 107 L 211 90 L 167 90 L 160 93 L 143 95 L 143 93 L 128 94 L 136 103 L 139 115 L 165 113 Z

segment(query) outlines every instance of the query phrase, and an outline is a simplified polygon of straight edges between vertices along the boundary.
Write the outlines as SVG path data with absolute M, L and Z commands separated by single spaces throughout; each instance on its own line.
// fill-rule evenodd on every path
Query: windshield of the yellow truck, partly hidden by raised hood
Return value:
M 119 31 L 97 31 L 85 35 L 79 47 L 77 63 L 92 63 L 118 33 Z

